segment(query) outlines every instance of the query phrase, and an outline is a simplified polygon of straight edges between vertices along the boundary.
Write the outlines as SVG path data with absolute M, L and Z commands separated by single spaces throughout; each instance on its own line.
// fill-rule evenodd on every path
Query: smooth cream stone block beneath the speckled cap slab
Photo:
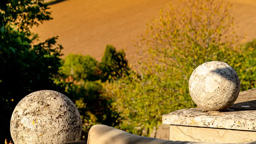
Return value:
M 169 140 L 245 144 L 243 142 L 256 141 L 256 132 L 171 125 Z

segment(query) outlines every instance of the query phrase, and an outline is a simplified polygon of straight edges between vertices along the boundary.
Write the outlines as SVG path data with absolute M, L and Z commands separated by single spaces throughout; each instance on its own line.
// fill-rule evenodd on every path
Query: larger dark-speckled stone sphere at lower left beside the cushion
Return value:
M 64 144 L 81 138 L 82 122 L 74 103 L 57 91 L 36 91 L 15 107 L 10 123 L 15 144 Z

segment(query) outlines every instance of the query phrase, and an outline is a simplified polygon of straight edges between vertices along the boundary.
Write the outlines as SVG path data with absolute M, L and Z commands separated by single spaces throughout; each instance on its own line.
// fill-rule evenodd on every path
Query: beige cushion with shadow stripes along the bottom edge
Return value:
M 123 130 L 105 126 L 94 125 L 89 130 L 87 144 L 219 144 L 207 142 L 180 142 L 168 141 L 157 138 L 143 137 L 135 134 L 130 134 Z M 256 144 L 256 142 L 246 142 L 243 144 Z

